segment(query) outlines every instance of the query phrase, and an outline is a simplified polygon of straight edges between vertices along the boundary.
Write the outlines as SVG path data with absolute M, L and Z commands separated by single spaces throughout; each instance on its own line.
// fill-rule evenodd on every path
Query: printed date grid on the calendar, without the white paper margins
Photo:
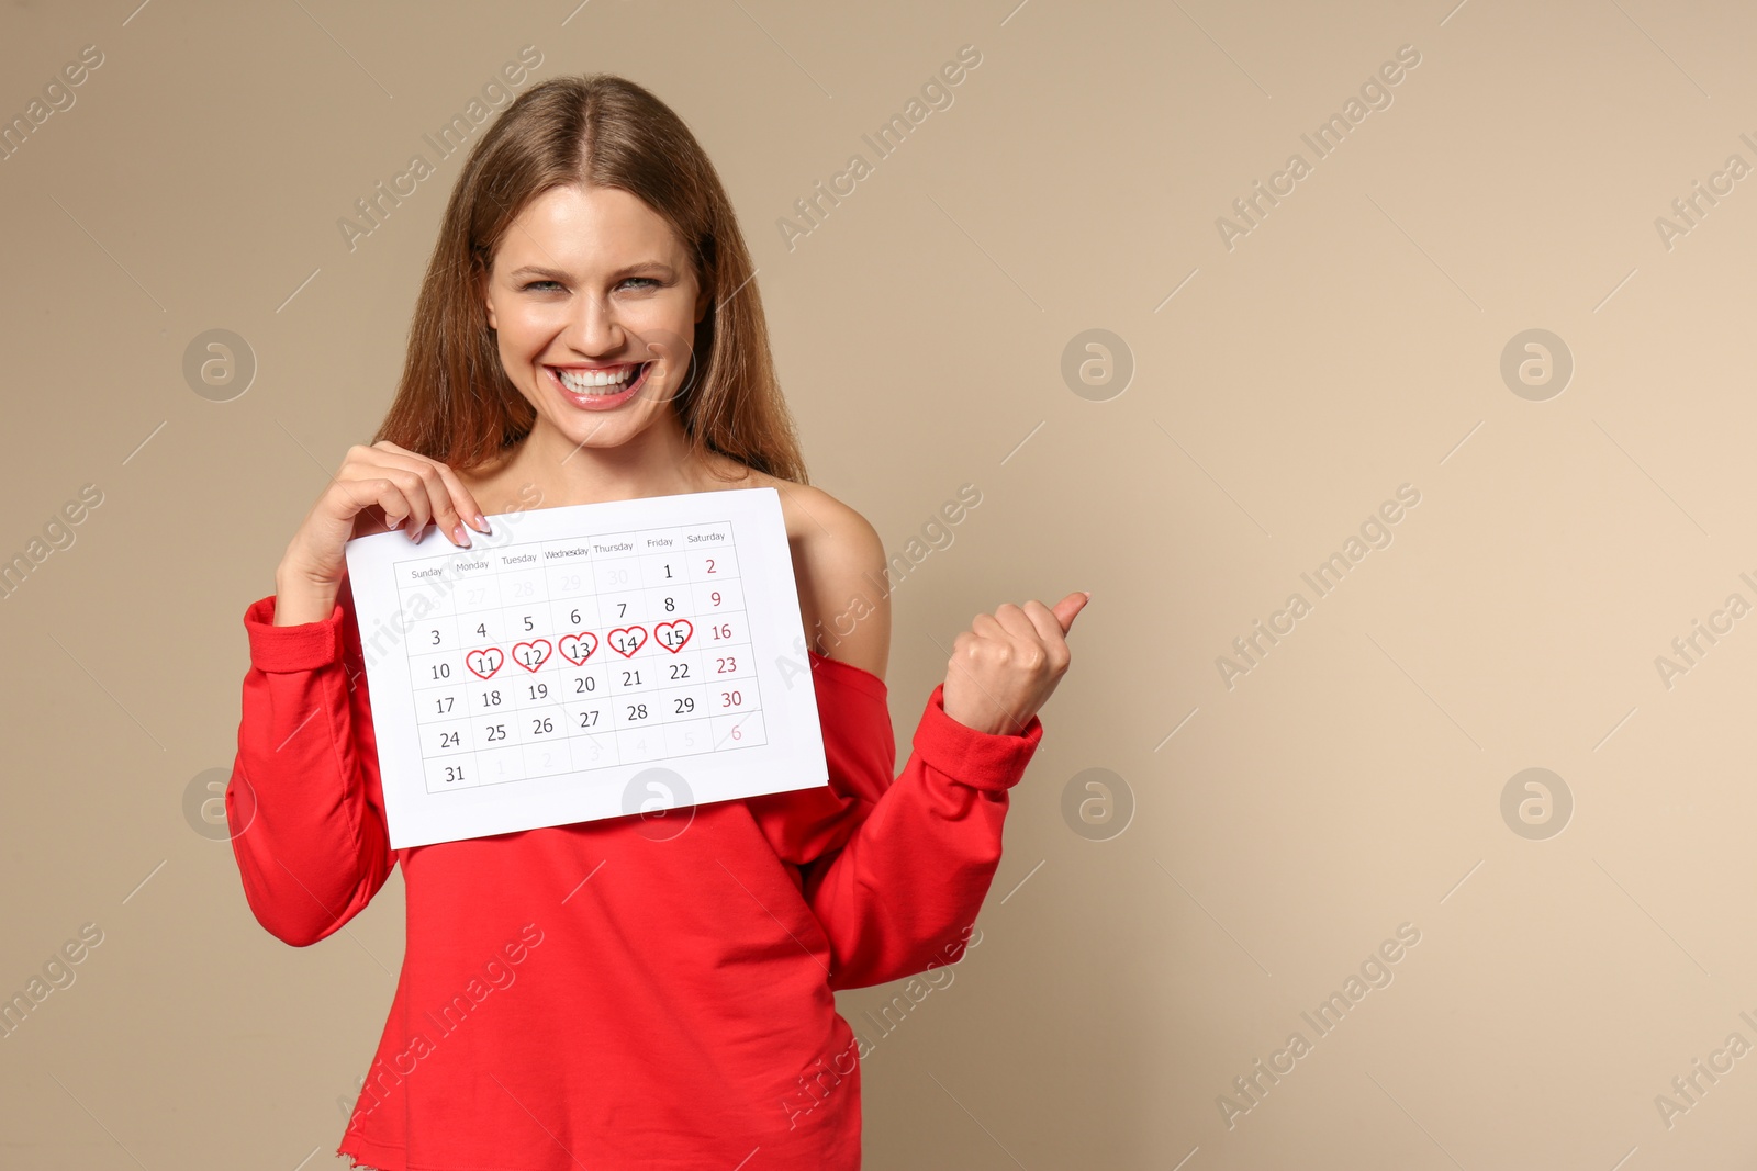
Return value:
M 430 794 L 768 741 L 729 521 L 394 571 Z

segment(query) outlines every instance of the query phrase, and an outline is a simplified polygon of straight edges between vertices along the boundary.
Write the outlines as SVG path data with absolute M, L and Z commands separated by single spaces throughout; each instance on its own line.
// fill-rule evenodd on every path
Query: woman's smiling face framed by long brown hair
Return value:
M 601 186 L 534 198 L 501 239 L 483 293 L 536 427 L 573 448 L 620 446 L 673 413 L 708 307 L 671 225 Z

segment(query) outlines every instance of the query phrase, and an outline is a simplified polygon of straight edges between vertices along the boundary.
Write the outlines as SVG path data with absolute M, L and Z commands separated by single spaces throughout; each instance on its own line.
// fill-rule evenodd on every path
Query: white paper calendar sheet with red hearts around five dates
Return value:
M 828 783 L 775 488 L 348 542 L 390 846 Z

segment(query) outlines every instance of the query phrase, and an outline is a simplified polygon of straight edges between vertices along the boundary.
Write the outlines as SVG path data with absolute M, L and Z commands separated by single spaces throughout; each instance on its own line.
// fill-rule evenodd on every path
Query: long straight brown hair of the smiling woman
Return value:
M 669 105 L 613 74 L 552 77 L 476 140 L 452 188 L 415 302 L 397 397 L 374 442 L 457 469 L 497 460 L 536 423 L 501 365 L 483 277 L 518 212 L 562 184 L 620 188 L 664 218 L 712 295 L 673 409 L 692 455 L 808 483 L 770 355 L 750 251 L 706 151 Z

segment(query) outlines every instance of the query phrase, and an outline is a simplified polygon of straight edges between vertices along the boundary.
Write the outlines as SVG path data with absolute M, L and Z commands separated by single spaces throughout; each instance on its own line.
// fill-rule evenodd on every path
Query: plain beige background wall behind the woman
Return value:
M 893 551 L 980 488 L 894 593 L 905 751 L 972 614 L 1095 593 L 982 943 L 864 1064 L 870 1167 L 1757 1166 L 1757 1055 L 1655 1106 L 1757 1045 L 1757 620 L 1655 667 L 1757 602 L 1757 179 L 1655 228 L 1757 163 L 1757 14 L 1453 4 L 9 5 L 7 118 L 104 65 L 0 163 L 0 555 L 104 502 L 0 602 L 0 992 L 104 943 L 0 1041 L 0 1164 L 329 1166 L 401 880 L 290 950 L 184 795 L 232 760 L 244 606 L 388 402 L 460 156 L 355 251 L 336 221 L 529 44 L 706 144 L 815 483 Z M 954 104 L 789 251 L 775 221 L 963 44 Z M 1228 251 L 1216 218 L 1404 44 L 1393 104 Z M 230 402 L 181 370 L 211 328 L 258 363 Z M 1135 363 L 1102 402 L 1061 376 L 1089 328 Z M 1527 328 L 1574 358 L 1543 402 L 1499 372 Z M 1395 541 L 1228 690 L 1232 639 L 1406 483 Z M 1135 804 L 1105 841 L 1063 816 L 1093 767 Z M 1573 794 L 1548 839 L 1500 813 L 1527 767 Z M 1393 983 L 1228 1129 L 1400 923 Z M 868 1034 L 900 988 L 838 1002 Z

